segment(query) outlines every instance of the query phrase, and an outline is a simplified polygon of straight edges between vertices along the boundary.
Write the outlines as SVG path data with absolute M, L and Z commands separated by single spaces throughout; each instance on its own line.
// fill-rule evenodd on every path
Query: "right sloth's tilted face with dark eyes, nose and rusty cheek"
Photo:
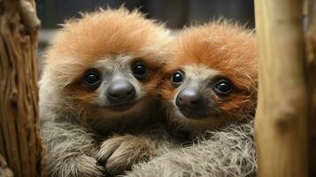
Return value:
M 247 118 L 254 111 L 252 93 L 206 65 L 184 65 L 169 71 L 164 83 L 167 112 L 181 127 L 217 127 L 227 120 Z

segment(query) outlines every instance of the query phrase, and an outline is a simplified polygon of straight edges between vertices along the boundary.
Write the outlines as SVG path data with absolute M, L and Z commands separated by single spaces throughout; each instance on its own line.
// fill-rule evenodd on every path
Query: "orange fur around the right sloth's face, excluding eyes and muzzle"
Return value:
M 212 95 L 212 100 L 225 113 L 226 119 L 243 118 L 246 113 L 255 112 L 258 78 L 257 46 L 255 37 L 250 31 L 227 22 L 189 27 L 184 29 L 173 42 L 171 58 L 165 66 L 166 79 L 161 90 L 167 105 L 170 105 L 170 100 L 178 92 L 170 83 L 173 72 L 182 70 L 185 65 L 204 65 L 218 71 L 220 73 L 218 77 L 225 77 L 233 82 L 235 90 L 226 98 Z M 188 120 L 185 123 L 189 124 L 189 121 L 192 125 L 198 121 L 203 122 L 199 124 L 203 127 L 212 127 L 212 123 L 219 123 L 215 119 L 208 119 L 211 124 L 205 123 L 206 120 Z

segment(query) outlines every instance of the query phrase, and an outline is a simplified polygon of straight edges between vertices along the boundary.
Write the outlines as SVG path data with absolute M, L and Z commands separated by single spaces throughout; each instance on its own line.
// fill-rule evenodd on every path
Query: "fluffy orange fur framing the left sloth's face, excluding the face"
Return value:
M 148 77 L 142 81 L 149 96 L 143 99 L 153 100 L 168 42 L 164 25 L 145 19 L 137 11 L 120 8 L 86 13 L 81 19 L 67 21 L 58 31 L 45 54 L 45 69 L 64 95 L 72 96 L 73 104 L 90 104 L 97 90 L 82 87 L 83 74 L 100 59 L 129 55 L 150 67 Z

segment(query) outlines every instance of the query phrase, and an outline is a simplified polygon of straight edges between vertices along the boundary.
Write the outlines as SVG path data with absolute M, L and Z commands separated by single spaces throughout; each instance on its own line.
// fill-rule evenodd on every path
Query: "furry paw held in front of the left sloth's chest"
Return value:
M 165 128 L 159 126 L 139 135 L 113 135 L 101 144 L 97 161 L 105 165 L 106 173 L 121 174 L 132 165 L 162 154 L 164 151 L 159 147 L 176 144 L 169 143 L 167 137 Z

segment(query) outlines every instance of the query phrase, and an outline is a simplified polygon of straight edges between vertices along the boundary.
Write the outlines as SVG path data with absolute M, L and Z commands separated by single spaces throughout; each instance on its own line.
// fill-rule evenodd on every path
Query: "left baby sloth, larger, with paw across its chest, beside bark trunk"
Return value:
M 117 174 L 150 158 L 155 147 L 138 130 L 157 121 L 168 41 L 163 25 L 124 8 L 83 14 L 58 31 L 40 81 L 50 176 Z

